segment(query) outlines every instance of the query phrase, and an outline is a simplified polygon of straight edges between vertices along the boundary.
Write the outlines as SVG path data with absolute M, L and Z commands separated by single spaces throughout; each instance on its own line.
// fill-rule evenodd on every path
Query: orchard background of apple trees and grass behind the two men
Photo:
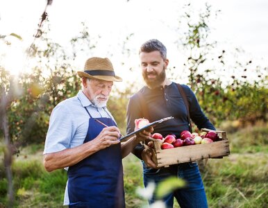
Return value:
M 190 6 L 185 8 L 178 28 L 186 24 L 187 29 L 176 42 L 187 58 L 183 66 L 169 66 L 167 76 L 192 88 L 208 118 L 218 130 L 226 130 L 230 140 L 231 155 L 208 160 L 202 169 L 209 205 L 267 207 L 267 67 L 251 58 L 240 59 L 241 50 L 219 49 L 217 42 L 210 41 L 209 20 L 215 16 L 210 6 L 194 22 L 191 12 Z M 46 173 L 42 150 L 51 110 L 81 88 L 74 60 L 81 53 L 94 55 L 101 39 L 81 25 L 66 49 L 49 38 L 46 17 L 38 28 L 42 33 L 26 51 L 31 72 L 14 76 L 0 64 L 0 207 L 62 207 L 66 173 Z M 13 44 L 9 37 L 22 40 L 19 34 L 0 34 L 1 46 Z M 130 34 L 119 43 L 122 66 L 136 55 L 128 48 L 132 38 Z M 0 58 L 5 58 L 4 50 Z M 126 70 L 133 73 L 132 68 Z M 124 87 L 115 85 L 112 90 L 108 109 L 123 134 L 128 98 L 140 87 L 139 82 L 126 81 Z M 123 162 L 127 207 L 148 206 L 136 192 L 136 187 L 142 187 L 140 162 L 133 155 Z

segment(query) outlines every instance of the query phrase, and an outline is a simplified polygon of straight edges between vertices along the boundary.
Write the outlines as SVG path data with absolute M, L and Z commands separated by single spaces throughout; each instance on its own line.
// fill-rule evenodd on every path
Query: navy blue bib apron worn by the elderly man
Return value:
M 95 119 L 116 125 L 110 118 Z M 102 129 L 90 115 L 84 143 L 96 138 Z M 69 207 L 125 207 L 121 144 L 99 150 L 69 167 L 68 194 Z

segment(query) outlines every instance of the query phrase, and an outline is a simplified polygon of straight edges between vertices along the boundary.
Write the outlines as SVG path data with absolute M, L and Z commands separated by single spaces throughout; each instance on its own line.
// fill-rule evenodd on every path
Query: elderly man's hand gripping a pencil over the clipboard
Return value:
M 94 145 L 99 149 L 108 148 L 111 145 L 118 144 L 120 131 L 116 126 L 103 128 L 99 135 L 94 139 Z

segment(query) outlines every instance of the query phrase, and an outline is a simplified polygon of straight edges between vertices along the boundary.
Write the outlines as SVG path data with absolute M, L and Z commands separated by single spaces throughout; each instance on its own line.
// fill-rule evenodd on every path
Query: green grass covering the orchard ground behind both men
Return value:
M 202 172 L 209 207 L 268 206 L 268 128 L 258 125 L 228 134 L 231 155 L 208 159 Z M 43 146 L 24 148 L 12 164 L 14 207 L 63 207 L 66 171 L 52 173 L 42 166 Z M 149 207 L 137 195 L 142 185 L 142 166 L 133 155 L 124 163 L 126 207 Z M 0 165 L 0 207 L 7 207 L 7 180 Z M 175 207 L 178 204 L 175 202 Z

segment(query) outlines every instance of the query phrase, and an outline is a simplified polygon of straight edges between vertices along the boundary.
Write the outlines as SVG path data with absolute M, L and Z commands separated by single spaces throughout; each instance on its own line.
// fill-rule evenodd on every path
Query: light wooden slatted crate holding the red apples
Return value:
M 201 131 L 208 132 L 209 129 Z M 228 139 L 225 131 L 215 131 L 218 133 L 220 141 L 214 141 L 209 144 L 195 144 L 191 146 L 181 146 L 177 148 L 161 149 L 161 141 L 153 141 L 153 162 L 158 168 L 169 166 L 171 164 L 180 164 L 183 162 L 192 162 L 206 158 L 222 158 L 230 155 Z

